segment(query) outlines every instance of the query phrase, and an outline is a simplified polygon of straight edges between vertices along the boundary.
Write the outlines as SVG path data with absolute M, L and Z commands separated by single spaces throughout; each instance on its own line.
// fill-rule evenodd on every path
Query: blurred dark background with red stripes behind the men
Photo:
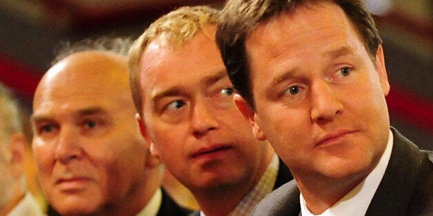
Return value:
M 383 37 L 392 125 L 433 150 L 433 1 L 370 0 Z M 33 91 L 61 42 L 100 36 L 136 39 L 161 14 L 223 0 L 1 0 L 0 81 L 31 111 Z M 368 89 L 365 89 L 366 91 Z M 1 109 L 1 108 L 0 108 Z

